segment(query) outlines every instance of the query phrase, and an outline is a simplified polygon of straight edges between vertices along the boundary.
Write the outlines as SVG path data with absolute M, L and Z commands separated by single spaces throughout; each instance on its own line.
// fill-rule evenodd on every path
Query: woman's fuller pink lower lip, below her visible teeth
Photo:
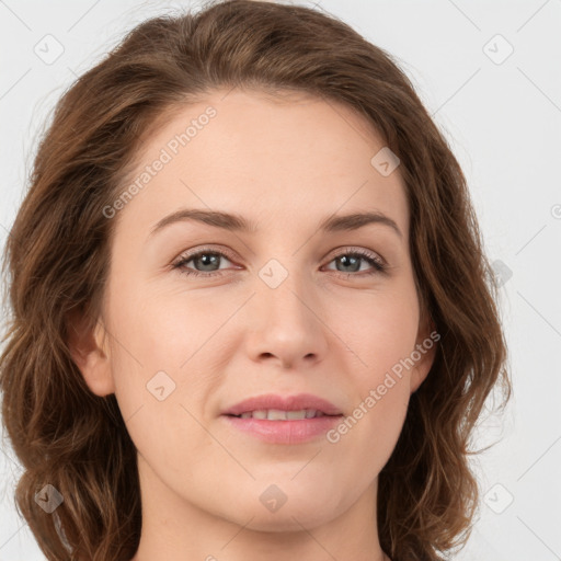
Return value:
M 268 421 L 266 419 L 241 419 L 222 415 L 233 427 L 273 444 L 300 444 L 324 435 L 341 422 L 343 415 L 324 415 L 290 421 Z

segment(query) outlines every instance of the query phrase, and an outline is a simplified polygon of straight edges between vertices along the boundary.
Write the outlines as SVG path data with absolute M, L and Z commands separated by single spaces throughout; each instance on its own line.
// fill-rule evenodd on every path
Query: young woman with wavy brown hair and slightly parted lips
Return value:
M 49 560 L 439 560 L 510 393 L 462 172 L 346 24 L 232 0 L 62 96 L 8 240 L 2 415 Z

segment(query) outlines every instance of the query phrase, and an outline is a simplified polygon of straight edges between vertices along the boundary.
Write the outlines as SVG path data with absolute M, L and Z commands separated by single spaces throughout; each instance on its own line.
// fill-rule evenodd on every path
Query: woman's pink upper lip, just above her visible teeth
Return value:
M 299 411 L 302 409 L 313 409 L 321 411 L 325 415 L 341 415 L 342 411 L 330 401 L 312 396 L 311 393 L 298 393 L 297 396 L 277 396 L 266 393 L 253 398 L 244 399 L 236 405 L 222 411 L 222 415 L 241 415 L 250 411 L 263 411 L 277 409 L 280 411 Z

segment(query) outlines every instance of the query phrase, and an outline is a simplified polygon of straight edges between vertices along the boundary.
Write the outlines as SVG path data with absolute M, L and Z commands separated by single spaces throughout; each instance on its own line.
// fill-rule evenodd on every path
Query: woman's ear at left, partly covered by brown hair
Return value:
M 93 329 L 91 323 L 84 312 L 72 310 L 67 316 L 68 347 L 90 390 L 104 397 L 115 391 L 106 332 L 101 321 Z

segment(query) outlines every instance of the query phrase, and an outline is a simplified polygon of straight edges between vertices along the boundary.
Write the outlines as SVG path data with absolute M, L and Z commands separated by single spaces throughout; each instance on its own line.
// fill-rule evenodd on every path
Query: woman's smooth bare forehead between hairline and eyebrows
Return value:
M 305 93 L 217 90 L 164 117 L 128 178 L 141 188 L 122 213 L 125 220 L 136 215 L 153 225 L 182 206 L 255 222 L 376 209 L 408 231 L 399 169 L 388 176 L 377 171 L 371 160 L 383 141 L 345 104 Z

